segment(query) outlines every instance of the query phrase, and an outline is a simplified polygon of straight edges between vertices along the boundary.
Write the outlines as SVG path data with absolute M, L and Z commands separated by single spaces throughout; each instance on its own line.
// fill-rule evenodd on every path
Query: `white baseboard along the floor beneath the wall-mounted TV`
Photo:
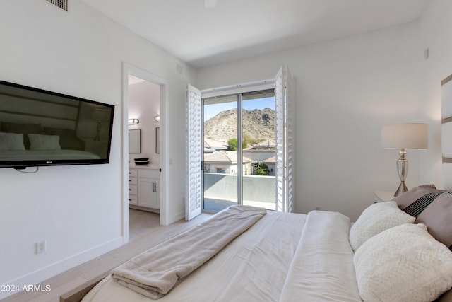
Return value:
M 42 281 L 52 278 L 57 274 L 66 272 L 66 270 L 68 269 L 76 267 L 77 265 L 81 265 L 89 260 L 93 260 L 95 257 L 104 255 L 106 252 L 114 250 L 115 248 L 119 248 L 121 245 L 123 245 L 123 238 L 114 238 L 107 243 L 97 245 L 90 250 L 85 250 L 84 252 L 80 252 L 71 257 L 67 257 L 64 260 L 55 262 L 52 265 L 48 265 L 47 267 L 42 267 L 42 269 L 37 269 L 35 272 L 30 272 L 29 274 L 25 274 L 22 277 L 18 277 L 11 281 L 5 282 L 4 285 L 8 284 L 18 286 L 17 288 L 22 291 L 24 286 L 40 284 Z M 43 290 L 45 289 L 46 284 L 44 284 L 43 286 Z M 0 300 L 13 294 L 18 294 L 18 291 L 0 291 Z

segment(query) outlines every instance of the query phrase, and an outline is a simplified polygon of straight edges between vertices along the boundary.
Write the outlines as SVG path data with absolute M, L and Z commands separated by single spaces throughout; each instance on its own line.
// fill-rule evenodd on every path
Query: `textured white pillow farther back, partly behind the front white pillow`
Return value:
M 377 202 L 362 211 L 358 220 L 350 228 L 350 245 L 356 251 L 367 239 L 394 226 L 414 223 L 415 217 L 400 210 L 396 202 Z

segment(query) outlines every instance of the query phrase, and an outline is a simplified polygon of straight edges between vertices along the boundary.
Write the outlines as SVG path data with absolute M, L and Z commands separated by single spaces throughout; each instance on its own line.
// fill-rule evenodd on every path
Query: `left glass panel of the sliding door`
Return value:
M 203 100 L 203 209 L 221 211 L 238 202 L 238 95 Z

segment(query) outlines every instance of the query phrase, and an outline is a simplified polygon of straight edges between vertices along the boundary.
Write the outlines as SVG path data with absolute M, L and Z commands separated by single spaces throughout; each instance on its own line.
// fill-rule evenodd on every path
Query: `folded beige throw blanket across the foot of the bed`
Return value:
M 229 207 L 113 269 L 112 278 L 144 296 L 161 298 L 265 214 L 258 207 Z

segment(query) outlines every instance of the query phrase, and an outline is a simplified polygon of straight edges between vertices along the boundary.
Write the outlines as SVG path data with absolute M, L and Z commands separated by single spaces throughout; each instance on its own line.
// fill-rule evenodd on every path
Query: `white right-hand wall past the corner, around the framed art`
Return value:
M 430 1 L 420 19 L 422 111 L 430 124 L 430 146 L 421 156 L 420 182 L 434 182 L 443 188 L 441 169 L 441 80 L 452 74 L 452 1 Z M 446 187 L 450 189 L 450 187 Z

